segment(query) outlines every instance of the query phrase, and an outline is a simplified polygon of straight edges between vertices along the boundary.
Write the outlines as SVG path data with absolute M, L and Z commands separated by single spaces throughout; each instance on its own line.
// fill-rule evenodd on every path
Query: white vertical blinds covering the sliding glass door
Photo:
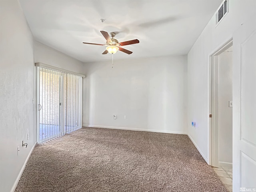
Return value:
M 82 127 L 82 77 L 38 67 L 39 131 L 44 142 Z

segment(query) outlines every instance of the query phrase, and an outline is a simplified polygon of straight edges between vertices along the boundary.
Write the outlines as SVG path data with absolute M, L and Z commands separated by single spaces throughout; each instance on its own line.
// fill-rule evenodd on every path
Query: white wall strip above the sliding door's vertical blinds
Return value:
M 84 70 L 83 62 L 37 41 L 34 41 L 34 59 L 35 63 L 40 62 L 80 74 Z

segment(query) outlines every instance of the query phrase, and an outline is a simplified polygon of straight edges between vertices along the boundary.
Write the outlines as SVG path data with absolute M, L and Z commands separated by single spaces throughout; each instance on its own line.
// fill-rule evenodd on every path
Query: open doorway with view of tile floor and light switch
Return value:
M 224 184 L 231 188 L 232 58 L 232 39 L 210 56 L 210 165 L 223 180 L 229 181 Z

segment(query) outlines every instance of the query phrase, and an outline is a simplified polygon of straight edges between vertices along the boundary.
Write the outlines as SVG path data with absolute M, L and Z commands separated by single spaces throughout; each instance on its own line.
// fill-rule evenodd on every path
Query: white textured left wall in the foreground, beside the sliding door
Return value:
M 0 2 L 0 191 L 9 192 L 35 144 L 34 58 L 32 33 L 18 1 Z

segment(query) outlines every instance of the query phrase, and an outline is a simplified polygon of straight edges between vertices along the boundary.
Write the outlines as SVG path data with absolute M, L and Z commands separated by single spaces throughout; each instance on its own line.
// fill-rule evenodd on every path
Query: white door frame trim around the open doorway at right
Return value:
M 233 45 L 230 38 L 212 54 L 209 60 L 209 165 L 218 167 L 218 55 Z M 210 117 L 212 115 L 212 117 Z

